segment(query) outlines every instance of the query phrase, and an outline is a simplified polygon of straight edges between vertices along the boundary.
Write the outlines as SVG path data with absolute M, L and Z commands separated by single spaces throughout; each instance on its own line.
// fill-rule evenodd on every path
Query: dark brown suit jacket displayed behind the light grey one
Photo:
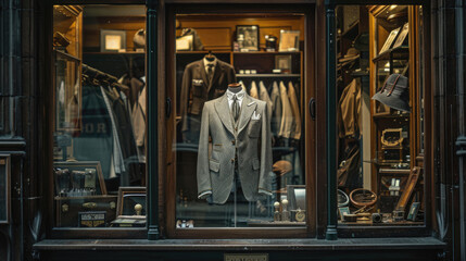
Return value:
M 201 114 L 204 102 L 223 96 L 228 84 L 236 83 L 235 69 L 216 60 L 214 75 L 209 79 L 204 61 L 188 64 L 181 82 L 180 114 L 181 132 L 186 142 L 198 142 Z

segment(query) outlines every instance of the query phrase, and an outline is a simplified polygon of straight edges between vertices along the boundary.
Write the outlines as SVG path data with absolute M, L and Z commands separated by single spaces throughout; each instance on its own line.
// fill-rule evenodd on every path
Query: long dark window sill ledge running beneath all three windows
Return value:
M 443 249 L 433 237 L 324 239 L 46 239 L 34 245 L 39 251 L 66 250 L 358 250 L 358 249 Z

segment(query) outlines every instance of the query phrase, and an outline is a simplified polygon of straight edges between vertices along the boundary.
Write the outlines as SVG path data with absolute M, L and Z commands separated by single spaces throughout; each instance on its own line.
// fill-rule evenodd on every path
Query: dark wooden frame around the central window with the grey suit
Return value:
M 166 17 L 159 28 L 165 28 L 166 32 L 161 33 L 165 38 L 160 41 L 163 47 L 159 47 L 161 54 L 164 52 L 166 54 L 165 58 L 160 58 L 161 60 L 166 61 L 166 67 L 159 69 L 159 72 L 165 72 L 165 79 L 159 78 L 159 86 L 165 86 L 165 89 L 159 88 L 160 97 L 167 97 L 171 100 L 175 100 L 174 87 L 175 83 L 175 15 L 176 14 L 189 14 L 189 13 L 300 13 L 305 15 L 305 40 L 304 40 L 304 57 L 303 62 L 306 64 L 303 66 L 304 71 L 302 74 L 305 76 L 302 78 L 302 83 L 304 85 L 303 89 L 306 89 L 307 94 L 304 99 L 303 104 L 307 104 L 307 101 L 311 97 L 314 97 L 314 25 L 315 21 L 315 5 L 314 4 L 243 4 L 243 5 L 225 5 L 225 4 L 167 4 L 166 7 Z M 165 45 L 165 46 L 164 46 Z M 160 66 L 164 66 L 164 64 L 160 64 Z M 166 91 L 166 92 L 165 92 Z M 305 105 L 303 105 L 306 108 Z M 303 109 L 304 109 L 303 108 Z M 160 107 L 161 110 L 164 110 L 164 107 Z M 175 104 L 172 104 L 172 112 L 175 111 Z M 305 154 L 306 159 L 315 159 L 315 130 L 311 130 L 315 128 L 314 121 L 311 120 L 307 110 L 303 110 L 304 115 L 304 124 L 305 124 Z M 164 113 L 160 113 L 164 114 Z M 163 214 L 164 221 L 162 224 L 165 227 L 162 229 L 166 231 L 166 235 L 169 238 L 305 238 L 305 237 L 315 237 L 316 236 L 316 219 L 315 214 L 306 215 L 306 226 L 303 227 L 215 227 L 215 228 L 176 228 L 175 227 L 175 211 L 176 211 L 176 182 L 175 176 L 175 153 L 169 152 L 172 149 L 172 141 L 174 137 L 169 134 L 174 134 L 175 126 L 175 113 L 168 119 L 162 120 L 162 126 L 167 126 L 165 128 L 164 134 L 161 134 L 160 137 L 161 145 L 164 145 L 164 149 L 159 150 L 161 152 L 160 162 L 164 162 L 164 164 L 160 167 L 160 173 L 162 176 L 160 181 L 163 186 L 159 186 L 162 191 L 159 192 L 163 199 L 160 199 L 159 202 L 164 202 L 165 206 L 160 206 L 160 210 L 164 211 Z M 162 129 L 162 128 L 160 128 Z M 310 213 L 315 213 L 316 210 L 316 200 L 315 197 L 315 162 L 313 160 L 307 160 L 306 165 L 304 166 L 305 171 L 305 181 L 306 181 L 306 207 L 310 210 Z

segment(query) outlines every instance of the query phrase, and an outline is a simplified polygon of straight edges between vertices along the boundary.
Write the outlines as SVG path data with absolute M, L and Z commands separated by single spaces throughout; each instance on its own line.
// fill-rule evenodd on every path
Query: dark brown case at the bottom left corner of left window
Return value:
M 79 215 L 103 211 L 105 223 L 116 216 L 116 196 L 87 196 L 87 197 L 55 197 L 56 204 L 56 226 L 58 227 L 79 227 Z

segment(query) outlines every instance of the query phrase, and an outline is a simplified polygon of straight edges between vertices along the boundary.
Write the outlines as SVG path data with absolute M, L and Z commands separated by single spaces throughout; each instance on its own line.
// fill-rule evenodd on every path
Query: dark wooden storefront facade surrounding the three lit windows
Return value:
M 128 3 L 130 1 L 92 1 L 92 3 Z M 207 10 L 227 10 L 244 4 L 250 10 L 280 10 L 285 5 L 290 10 L 314 12 L 310 15 L 315 26 L 307 28 L 307 36 L 315 46 L 313 64 L 320 69 L 328 67 L 326 14 L 331 15 L 335 7 L 324 1 L 200 1 Z M 59 4 L 89 3 L 88 1 L 55 1 Z M 133 2 L 131 2 L 133 3 Z M 146 3 L 139 1 L 138 3 Z M 285 4 L 284 4 L 285 3 Z M 339 1 L 338 4 L 375 4 L 374 1 Z M 318 209 L 306 231 L 297 235 L 287 235 L 292 239 L 242 239 L 248 234 L 235 235 L 203 235 L 191 238 L 228 238 L 228 239 L 174 239 L 166 231 L 165 179 L 161 175 L 149 176 L 148 191 L 150 204 L 154 208 L 148 216 L 148 229 L 105 232 L 79 232 L 73 235 L 55 229 L 48 215 L 53 213 L 49 200 L 51 181 L 49 171 L 52 162 L 48 159 L 52 148 L 50 140 L 49 110 L 52 108 L 53 89 L 48 67 L 51 67 L 51 2 L 33 0 L 1 1 L 1 66 L 0 66 L 0 154 L 11 157 L 11 215 L 9 224 L 0 224 L 0 260 L 222 260 L 224 253 L 267 253 L 269 260 L 461 260 L 465 252 L 464 212 L 466 195 L 464 194 L 463 146 L 466 125 L 465 111 L 465 2 L 464 1 L 392 1 L 394 4 L 425 4 L 430 16 L 428 38 L 431 50 L 430 86 L 432 104 L 430 107 L 431 140 L 427 141 L 430 151 L 426 167 L 431 172 L 429 183 L 431 204 L 430 219 L 427 226 L 418 229 L 390 231 L 378 229 L 341 229 L 337 228 L 338 240 L 326 240 L 329 225 L 336 225 L 336 219 L 328 215 L 330 199 L 326 190 L 314 191 L 316 198 L 310 200 L 310 209 Z M 147 57 L 148 65 L 153 71 L 148 77 L 149 92 L 152 103 L 149 108 L 152 121 L 149 121 L 150 160 L 148 173 L 164 173 L 164 164 L 159 163 L 159 157 L 166 157 L 164 150 L 166 133 L 163 127 L 166 121 L 164 88 L 166 79 L 163 72 L 168 67 L 163 61 L 168 61 L 165 46 L 167 33 L 165 23 L 171 7 L 194 7 L 190 1 L 148 1 L 148 21 L 152 26 L 147 27 L 149 34 L 148 50 L 154 53 Z M 198 3 L 197 3 L 198 4 Z M 380 2 L 380 4 L 382 4 Z M 383 2 L 383 4 L 387 4 Z M 202 5 L 201 5 L 202 8 Z M 199 9 L 199 7 L 198 7 Z M 239 8 L 241 10 L 241 8 Z M 306 21 L 308 22 L 308 21 Z M 156 26 L 154 26 L 156 24 Z M 455 34 L 453 34 L 455 32 Z M 329 83 L 328 70 L 307 69 L 310 78 L 315 78 L 315 86 L 326 86 Z M 316 99 L 326 100 L 328 94 L 324 88 L 316 88 Z M 318 137 L 327 135 L 328 121 L 327 102 L 317 103 L 315 132 Z M 314 126 L 313 126 L 314 127 Z M 328 144 L 319 142 L 317 150 L 325 152 Z M 330 145 L 331 146 L 331 145 Z M 314 153 L 310 151 L 311 153 Z M 326 173 L 328 159 L 310 165 L 317 172 Z M 336 164 L 336 163 L 333 163 Z M 331 169 L 330 169 L 331 171 Z M 47 181 L 47 182 L 45 182 Z M 326 187 L 326 175 L 317 175 L 312 182 Z M 313 190 L 316 184 L 307 184 Z M 335 181 L 333 181 L 335 182 Z M 330 186 L 330 185 L 328 185 Z M 330 186 L 331 187 L 331 186 Z M 463 195 L 462 195 L 463 192 Z M 160 202 L 160 203 L 159 203 Z M 331 209 L 331 207 L 330 207 Z M 463 219 L 463 220 L 462 220 Z M 311 221 L 311 220 L 310 220 Z M 172 235 L 173 236 L 173 235 Z M 185 235 L 186 236 L 186 235 Z M 281 234 L 270 233 L 265 238 L 279 238 Z M 130 237 L 135 239 L 129 239 Z M 304 237 L 295 239 L 297 237 Z M 356 237 L 356 238 L 352 238 Z M 360 237 L 360 238 L 357 238 Z M 362 237 L 362 238 L 361 238 Z M 68 238 L 68 239 L 62 239 Z M 76 238 L 76 239 L 70 239 Z M 97 239 L 99 238 L 99 239 Z M 125 239 L 122 239 L 125 238 Z M 158 239 L 158 240 L 148 240 Z M 234 239 L 236 238 L 236 239 Z

